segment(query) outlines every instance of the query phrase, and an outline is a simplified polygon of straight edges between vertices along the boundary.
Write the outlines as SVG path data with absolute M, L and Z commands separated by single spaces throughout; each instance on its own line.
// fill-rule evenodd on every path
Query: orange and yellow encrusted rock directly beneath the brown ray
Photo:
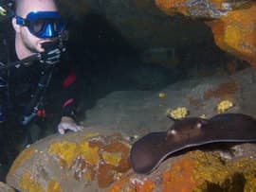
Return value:
M 232 153 L 234 148 L 240 152 Z M 170 157 L 149 175 L 126 174 L 107 192 L 255 191 L 256 159 L 250 155 L 256 145 L 228 145 L 226 149 L 193 150 Z

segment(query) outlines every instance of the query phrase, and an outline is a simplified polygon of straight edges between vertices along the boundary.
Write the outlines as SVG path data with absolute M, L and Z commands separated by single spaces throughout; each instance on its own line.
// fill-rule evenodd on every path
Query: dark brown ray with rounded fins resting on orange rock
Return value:
M 221 142 L 255 142 L 256 120 L 242 113 L 222 113 L 210 119 L 174 120 L 168 131 L 151 132 L 133 145 L 130 161 L 137 173 L 150 173 L 168 155 L 184 148 Z

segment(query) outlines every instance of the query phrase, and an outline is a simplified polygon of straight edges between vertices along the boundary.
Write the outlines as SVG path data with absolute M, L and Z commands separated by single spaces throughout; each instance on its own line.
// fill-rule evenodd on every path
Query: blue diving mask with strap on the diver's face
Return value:
M 16 15 L 16 24 L 27 26 L 29 32 L 40 39 L 62 36 L 64 22 L 57 11 L 31 11 L 26 19 Z

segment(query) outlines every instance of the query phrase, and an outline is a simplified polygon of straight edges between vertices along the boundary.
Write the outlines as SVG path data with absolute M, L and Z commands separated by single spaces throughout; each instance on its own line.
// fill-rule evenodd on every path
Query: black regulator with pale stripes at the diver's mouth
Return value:
M 48 65 L 55 64 L 61 61 L 62 53 L 63 50 L 61 50 L 59 47 L 49 50 L 48 52 L 44 52 L 41 54 L 40 62 L 46 63 Z

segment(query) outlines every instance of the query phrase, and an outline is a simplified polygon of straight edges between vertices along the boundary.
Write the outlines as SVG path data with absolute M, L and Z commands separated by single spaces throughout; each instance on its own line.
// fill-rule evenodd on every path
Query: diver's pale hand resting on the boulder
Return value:
M 65 131 L 82 131 L 82 127 L 78 126 L 76 122 L 69 116 L 63 116 L 58 125 L 58 131 L 64 134 Z

